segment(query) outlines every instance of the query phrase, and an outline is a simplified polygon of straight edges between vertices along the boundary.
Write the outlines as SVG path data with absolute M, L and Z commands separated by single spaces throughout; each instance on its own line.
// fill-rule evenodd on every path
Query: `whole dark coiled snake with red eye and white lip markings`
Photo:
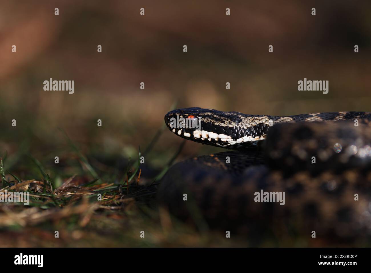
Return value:
M 228 150 L 171 166 L 158 201 L 198 230 L 249 246 L 370 246 L 370 121 L 354 111 L 170 111 L 176 136 Z

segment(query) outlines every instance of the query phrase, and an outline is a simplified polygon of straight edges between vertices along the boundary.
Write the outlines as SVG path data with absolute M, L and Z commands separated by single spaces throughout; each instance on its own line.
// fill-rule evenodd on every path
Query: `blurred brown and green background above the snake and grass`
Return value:
M 35 178 L 23 153 L 46 165 L 69 158 L 62 129 L 88 156 L 137 157 L 175 103 L 264 115 L 371 111 L 370 34 L 370 1 L 1 0 L 0 155 Z M 49 78 L 74 80 L 74 94 L 44 91 Z M 304 78 L 328 80 L 328 94 L 298 91 Z M 162 131 L 146 163 L 163 166 L 181 142 Z M 187 142 L 177 160 L 220 151 Z M 76 172 L 63 164 L 50 170 L 60 181 Z

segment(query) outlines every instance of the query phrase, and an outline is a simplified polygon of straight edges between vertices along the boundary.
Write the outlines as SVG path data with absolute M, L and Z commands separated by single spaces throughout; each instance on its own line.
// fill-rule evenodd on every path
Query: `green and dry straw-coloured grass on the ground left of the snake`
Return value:
M 158 130 L 145 155 L 151 152 L 163 129 Z M 141 175 L 142 152 L 128 160 L 125 171 L 102 172 L 62 131 L 68 143 L 68 162 L 43 166 L 33 155 L 19 156 L 22 164 L 0 158 L 1 189 L 28 192 L 30 204 L 0 203 L 2 247 L 131 247 L 131 246 L 233 246 L 223 237 L 200 234 L 159 209 L 158 181 L 173 165 L 184 142 L 153 178 Z M 132 161 L 132 163 L 131 163 Z M 61 179 L 58 173 L 81 168 L 79 175 Z M 59 170 L 57 170 L 59 169 Z M 34 172 L 32 170 L 35 170 Z M 32 179 L 26 179 L 35 173 Z M 58 232 L 57 232 L 58 231 Z M 145 238 L 140 232 L 145 231 Z M 217 239 L 219 238 L 219 239 Z M 237 244 L 238 245 L 238 244 Z

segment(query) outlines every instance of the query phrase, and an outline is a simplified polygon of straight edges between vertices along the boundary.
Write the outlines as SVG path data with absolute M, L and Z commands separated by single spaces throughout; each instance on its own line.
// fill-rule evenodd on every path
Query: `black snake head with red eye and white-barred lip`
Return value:
M 257 122 L 257 119 L 262 122 Z M 184 139 L 227 149 L 251 146 L 265 138 L 266 116 L 245 115 L 198 107 L 170 111 L 165 123 Z

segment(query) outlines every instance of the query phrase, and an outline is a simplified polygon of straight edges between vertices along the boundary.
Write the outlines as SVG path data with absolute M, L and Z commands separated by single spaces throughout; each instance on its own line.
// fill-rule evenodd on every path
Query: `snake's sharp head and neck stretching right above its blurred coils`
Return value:
M 329 112 L 295 116 L 248 115 L 214 109 L 184 108 L 170 111 L 165 116 L 167 127 L 180 137 L 226 149 L 243 149 L 266 138 L 269 127 L 276 123 L 338 121 L 369 117 L 369 112 Z M 178 127 L 172 119 L 198 120 L 199 127 Z

